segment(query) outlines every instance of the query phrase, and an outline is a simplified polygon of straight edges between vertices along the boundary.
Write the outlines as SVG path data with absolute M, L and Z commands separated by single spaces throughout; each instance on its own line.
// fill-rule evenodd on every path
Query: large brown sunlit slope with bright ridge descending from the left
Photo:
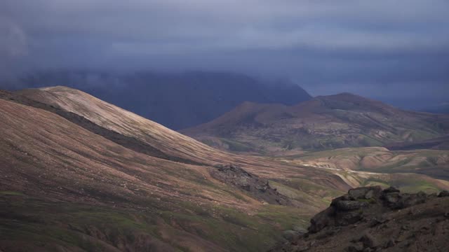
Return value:
M 0 160 L 1 251 L 264 251 L 374 178 L 449 188 L 217 151 L 61 86 L 0 91 Z

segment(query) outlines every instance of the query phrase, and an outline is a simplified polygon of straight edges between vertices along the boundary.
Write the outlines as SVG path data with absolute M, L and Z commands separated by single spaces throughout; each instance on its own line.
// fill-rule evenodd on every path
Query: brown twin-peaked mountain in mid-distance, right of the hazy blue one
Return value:
M 448 130 L 447 115 L 402 111 L 343 93 L 295 106 L 246 102 L 182 133 L 230 151 L 286 154 L 421 141 Z

